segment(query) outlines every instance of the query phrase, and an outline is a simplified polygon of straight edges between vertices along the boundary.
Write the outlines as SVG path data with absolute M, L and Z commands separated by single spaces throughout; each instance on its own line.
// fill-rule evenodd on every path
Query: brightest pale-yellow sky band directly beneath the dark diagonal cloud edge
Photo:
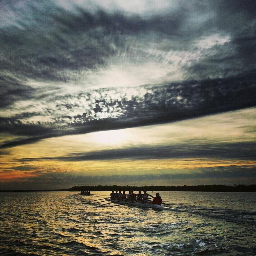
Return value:
M 15 158 L 33 158 L 115 148 L 181 145 L 188 141 L 198 143 L 198 145 L 254 142 L 256 141 L 255 129 L 256 111 L 255 108 L 248 108 L 169 124 L 50 138 L 33 144 L 17 146 L 11 150 Z

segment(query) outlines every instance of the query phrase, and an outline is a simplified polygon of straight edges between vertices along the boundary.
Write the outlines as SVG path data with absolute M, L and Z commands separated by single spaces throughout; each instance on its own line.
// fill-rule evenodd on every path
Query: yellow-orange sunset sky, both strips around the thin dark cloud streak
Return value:
M 151 125 L 80 135 L 68 135 L 44 139 L 35 143 L 2 150 L 0 181 L 17 181 L 41 176 L 44 173 L 70 172 L 72 175 L 162 175 L 200 172 L 203 168 L 247 166 L 253 167 L 252 159 L 217 157 L 171 157 L 158 159 L 87 159 L 67 160 L 65 156 L 97 154 L 103 150 L 123 150 L 155 146 L 178 147 L 179 145 L 204 145 L 218 143 L 255 142 L 255 108 L 204 116 L 174 123 Z M 27 160 L 26 160 L 27 158 Z M 28 159 L 29 158 L 29 159 Z M 41 159 L 40 159 L 41 158 Z M 45 159 L 52 158 L 52 159 Z M 60 158 L 60 159 L 59 159 Z M 31 161 L 31 159 L 33 161 Z

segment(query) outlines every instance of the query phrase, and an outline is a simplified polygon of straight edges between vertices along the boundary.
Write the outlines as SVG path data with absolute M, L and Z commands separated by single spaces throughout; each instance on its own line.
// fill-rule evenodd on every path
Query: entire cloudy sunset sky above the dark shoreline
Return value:
M 0 2 L 0 189 L 256 183 L 254 1 Z

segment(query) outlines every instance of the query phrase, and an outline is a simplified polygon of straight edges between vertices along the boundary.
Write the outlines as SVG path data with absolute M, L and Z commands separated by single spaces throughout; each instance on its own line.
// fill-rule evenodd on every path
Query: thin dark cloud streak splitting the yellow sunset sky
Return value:
M 204 140 L 188 140 L 184 144 L 168 146 L 140 146 L 135 148 L 108 149 L 96 152 L 78 152 L 62 157 L 22 158 L 17 161 L 30 162 L 38 160 L 59 161 L 90 161 L 115 159 L 168 159 L 214 157 L 223 159 L 255 159 L 256 145 L 254 142 L 212 143 Z

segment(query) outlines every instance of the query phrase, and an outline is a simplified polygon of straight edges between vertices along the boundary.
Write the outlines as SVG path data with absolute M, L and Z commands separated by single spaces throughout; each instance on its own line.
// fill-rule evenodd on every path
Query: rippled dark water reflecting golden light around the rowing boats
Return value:
M 256 193 L 161 192 L 183 212 L 76 193 L 0 193 L 0 255 L 256 255 Z

